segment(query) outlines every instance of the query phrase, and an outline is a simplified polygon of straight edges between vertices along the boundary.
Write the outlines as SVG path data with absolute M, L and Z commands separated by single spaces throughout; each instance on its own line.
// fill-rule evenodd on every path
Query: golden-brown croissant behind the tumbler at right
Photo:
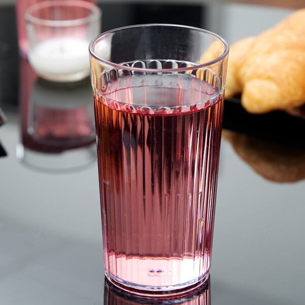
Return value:
M 241 93 L 249 112 L 305 103 L 305 9 L 262 34 L 232 44 L 226 97 Z

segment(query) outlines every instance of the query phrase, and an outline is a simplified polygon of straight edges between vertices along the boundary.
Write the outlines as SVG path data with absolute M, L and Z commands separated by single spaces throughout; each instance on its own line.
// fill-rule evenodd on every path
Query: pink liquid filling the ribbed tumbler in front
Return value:
M 204 279 L 223 95 L 177 74 L 128 76 L 94 95 L 107 277 L 144 290 Z

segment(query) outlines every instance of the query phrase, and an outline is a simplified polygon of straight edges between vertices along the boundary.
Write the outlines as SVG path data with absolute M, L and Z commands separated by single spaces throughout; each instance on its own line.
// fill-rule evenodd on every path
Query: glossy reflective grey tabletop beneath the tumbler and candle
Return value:
M 131 304 L 105 285 L 94 138 L 33 137 L 39 109 L 90 108 L 89 80 L 68 89 L 71 106 L 18 57 L 14 8 L 0 17 L 1 303 Z M 304 122 L 226 101 L 210 286 L 193 304 L 305 303 Z

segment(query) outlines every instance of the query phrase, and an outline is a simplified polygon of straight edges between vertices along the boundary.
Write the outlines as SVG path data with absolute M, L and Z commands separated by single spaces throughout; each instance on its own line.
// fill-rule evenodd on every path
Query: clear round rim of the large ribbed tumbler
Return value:
M 98 56 L 95 51 L 94 51 L 94 46 L 95 44 L 103 37 L 106 37 L 107 35 L 113 34 L 115 32 L 119 32 L 125 29 L 130 29 L 130 28 L 136 28 L 136 27 L 152 27 L 152 26 L 166 26 L 166 27 L 180 27 L 180 28 L 188 28 L 192 29 L 194 31 L 199 31 L 202 33 L 205 33 L 211 37 L 216 38 L 218 41 L 222 42 L 224 45 L 224 52 L 218 56 L 217 58 L 210 60 L 208 62 L 205 62 L 203 64 L 198 64 L 195 67 L 183 67 L 183 68 L 167 68 L 167 69 L 152 69 L 152 68 L 138 68 L 138 67 L 128 67 L 122 64 L 116 64 L 113 63 L 109 60 L 106 60 L 100 56 Z M 137 72 L 153 72 L 153 73 L 158 73 L 158 72 L 182 72 L 182 71 L 191 71 L 195 69 L 201 69 L 216 63 L 221 62 L 229 53 L 229 45 L 226 42 L 224 38 L 222 38 L 220 35 L 213 33 L 211 31 L 208 31 L 206 29 L 200 28 L 200 27 L 195 27 L 195 26 L 189 26 L 189 25 L 182 25 L 182 24 L 171 24 L 171 23 L 145 23 L 145 24 L 135 24 L 135 25 L 128 25 L 128 26 L 121 26 L 117 27 L 114 29 L 110 29 L 109 31 L 106 31 L 97 37 L 95 37 L 89 44 L 89 53 L 92 55 L 95 59 L 97 59 L 99 62 L 105 64 L 106 66 L 111 66 L 116 69 L 124 69 L 128 71 L 137 71 Z M 151 58 L 153 60 L 153 58 Z M 156 59 L 156 58 L 154 58 Z

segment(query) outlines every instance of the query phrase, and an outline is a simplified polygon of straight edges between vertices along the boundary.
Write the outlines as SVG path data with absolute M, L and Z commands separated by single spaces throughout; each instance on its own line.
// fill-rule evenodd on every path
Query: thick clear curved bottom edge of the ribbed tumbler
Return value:
M 107 271 L 105 271 L 106 278 L 108 281 L 113 284 L 115 287 L 124 290 L 133 295 L 138 296 L 156 296 L 156 297 L 164 297 L 164 296 L 178 296 L 180 294 L 189 293 L 204 283 L 207 282 L 209 279 L 209 271 L 207 270 L 203 276 L 197 278 L 193 281 L 172 285 L 172 286 L 144 286 L 144 285 L 137 285 L 133 283 L 129 283 L 123 280 L 120 280 Z

